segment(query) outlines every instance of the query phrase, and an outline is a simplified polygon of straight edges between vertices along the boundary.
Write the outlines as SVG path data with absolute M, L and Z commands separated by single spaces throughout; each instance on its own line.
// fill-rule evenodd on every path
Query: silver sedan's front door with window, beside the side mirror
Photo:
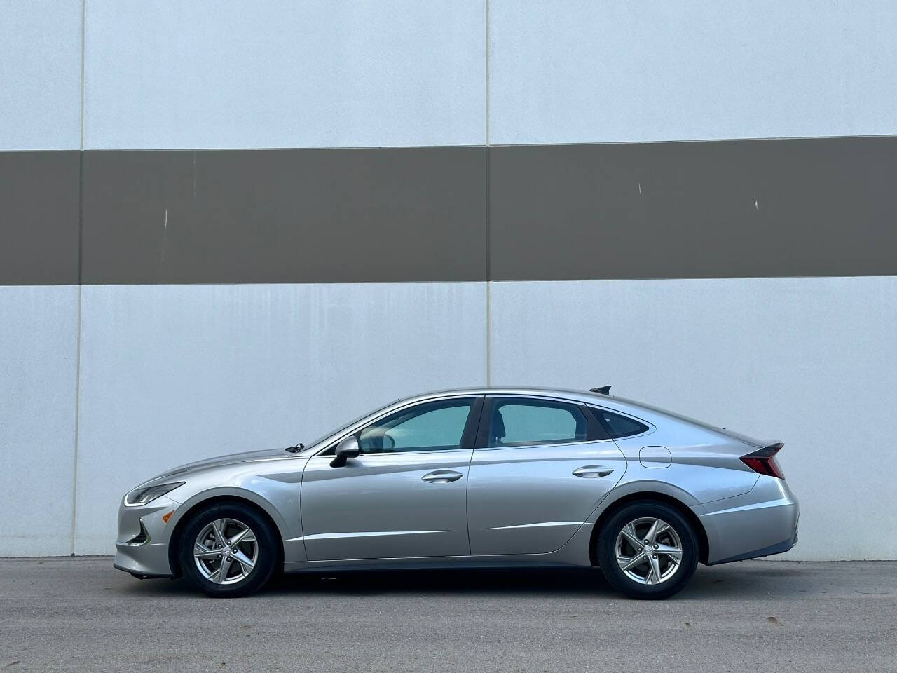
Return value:
M 361 455 L 309 459 L 300 508 L 309 561 L 468 555 L 466 491 L 482 398 L 390 412 L 356 436 Z

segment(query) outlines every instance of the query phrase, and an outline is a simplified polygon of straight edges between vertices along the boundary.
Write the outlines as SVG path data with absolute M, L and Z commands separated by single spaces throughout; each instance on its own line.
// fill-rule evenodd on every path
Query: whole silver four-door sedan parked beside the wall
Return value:
M 243 596 L 278 571 L 597 565 L 662 599 L 699 561 L 795 544 L 780 442 L 608 388 L 420 395 L 307 446 L 172 469 L 122 500 L 115 567 Z

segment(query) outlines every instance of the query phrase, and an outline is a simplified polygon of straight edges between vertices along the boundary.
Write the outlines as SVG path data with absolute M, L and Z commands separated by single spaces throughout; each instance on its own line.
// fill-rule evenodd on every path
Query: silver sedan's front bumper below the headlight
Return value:
M 180 503 L 166 495 L 140 507 L 120 503 L 112 564 L 118 570 L 143 577 L 171 577 L 174 573 L 169 563 L 169 542 L 177 517 L 166 523 L 162 516 L 179 507 Z

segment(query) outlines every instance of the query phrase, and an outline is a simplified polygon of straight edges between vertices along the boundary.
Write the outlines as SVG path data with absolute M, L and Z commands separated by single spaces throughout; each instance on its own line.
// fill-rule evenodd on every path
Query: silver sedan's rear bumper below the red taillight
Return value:
M 761 476 L 749 493 L 701 509 L 695 513 L 707 532 L 709 565 L 782 554 L 797 543 L 800 506 L 774 476 Z

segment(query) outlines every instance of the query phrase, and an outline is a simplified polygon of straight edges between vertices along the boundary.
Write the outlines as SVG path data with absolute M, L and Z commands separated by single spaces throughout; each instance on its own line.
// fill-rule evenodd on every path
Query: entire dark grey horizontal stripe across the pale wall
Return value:
M 83 160 L 85 284 L 897 275 L 894 136 Z M 78 162 L 0 153 L 0 284 L 77 283 Z

